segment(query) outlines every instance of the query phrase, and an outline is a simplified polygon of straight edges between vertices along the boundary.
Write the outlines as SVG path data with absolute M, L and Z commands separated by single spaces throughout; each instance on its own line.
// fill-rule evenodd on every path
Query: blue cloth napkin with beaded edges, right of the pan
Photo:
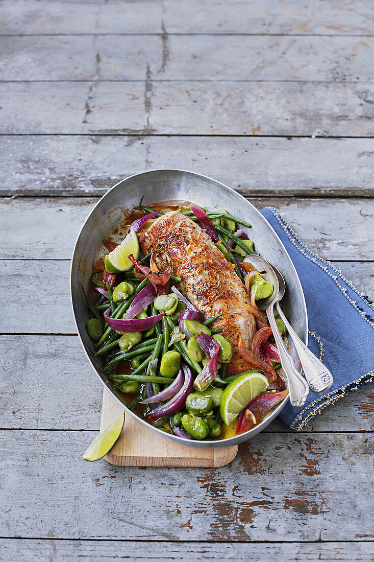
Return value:
M 261 213 L 297 269 L 308 310 L 308 347 L 334 377 L 326 392 L 310 391 L 302 408 L 288 402 L 282 410 L 280 418 L 300 430 L 323 408 L 374 379 L 374 306 L 333 264 L 311 252 L 277 209 Z

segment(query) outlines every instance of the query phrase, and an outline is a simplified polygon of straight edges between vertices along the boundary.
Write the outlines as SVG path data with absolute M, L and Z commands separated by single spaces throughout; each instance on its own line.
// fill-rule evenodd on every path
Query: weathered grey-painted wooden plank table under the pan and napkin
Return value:
M 1 560 L 372 559 L 372 386 L 222 469 L 88 464 L 102 386 L 68 295 L 98 197 L 181 167 L 279 207 L 373 297 L 372 8 L 2 0 Z

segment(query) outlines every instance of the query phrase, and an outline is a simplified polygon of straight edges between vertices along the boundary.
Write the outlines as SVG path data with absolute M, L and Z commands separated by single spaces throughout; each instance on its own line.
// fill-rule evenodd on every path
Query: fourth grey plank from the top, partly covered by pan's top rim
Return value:
M 374 194 L 374 139 L 9 135 L 1 145 L 0 196 L 98 196 L 157 168 L 190 169 L 251 196 Z

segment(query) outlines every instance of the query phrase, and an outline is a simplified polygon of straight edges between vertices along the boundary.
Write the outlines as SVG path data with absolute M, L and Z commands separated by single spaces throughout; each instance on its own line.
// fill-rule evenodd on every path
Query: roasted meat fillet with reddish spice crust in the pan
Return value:
M 229 312 L 212 324 L 222 329 L 222 336 L 232 347 L 226 373 L 250 369 L 238 352 L 239 337 L 250 346 L 256 332 L 256 321 L 248 310 L 249 297 L 234 266 L 226 261 L 208 234 L 189 217 L 171 211 L 145 223 L 138 238 L 144 253 L 154 250 L 157 260 L 170 266 L 172 275 L 184 280 L 185 296 L 205 318 Z

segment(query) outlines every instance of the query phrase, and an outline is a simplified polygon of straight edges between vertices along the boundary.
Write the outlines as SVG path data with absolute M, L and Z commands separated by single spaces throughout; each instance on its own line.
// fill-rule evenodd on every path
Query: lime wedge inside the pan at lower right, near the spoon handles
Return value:
M 220 412 L 226 425 L 238 417 L 241 410 L 248 402 L 264 392 L 269 386 L 269 381 L 261 373 L 243 373 L 227 385 L 222 392 Z

